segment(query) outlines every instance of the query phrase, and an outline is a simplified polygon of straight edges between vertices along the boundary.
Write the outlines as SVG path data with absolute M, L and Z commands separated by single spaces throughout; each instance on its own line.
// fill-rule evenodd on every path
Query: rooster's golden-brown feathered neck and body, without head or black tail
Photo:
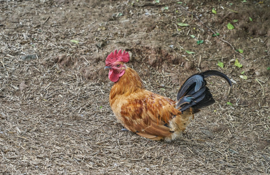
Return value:
M 129 131 L 152 140 L 174 140 L 194 117 L 192 109 L 183 114 L 176 102 L 144 88 L 138 73 L 126 68 L 114 83 L 109 103 L 117 120 Z

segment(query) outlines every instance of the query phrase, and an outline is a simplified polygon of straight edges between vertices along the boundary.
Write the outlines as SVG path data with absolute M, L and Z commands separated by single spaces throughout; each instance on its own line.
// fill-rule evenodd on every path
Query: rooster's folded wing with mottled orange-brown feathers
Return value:
M 168 121 L 180 114 L 175 101 L 148 90 L 130 94 L 118 106 L 116 117 L 126 129 L 149 139 L 170 136 Z

